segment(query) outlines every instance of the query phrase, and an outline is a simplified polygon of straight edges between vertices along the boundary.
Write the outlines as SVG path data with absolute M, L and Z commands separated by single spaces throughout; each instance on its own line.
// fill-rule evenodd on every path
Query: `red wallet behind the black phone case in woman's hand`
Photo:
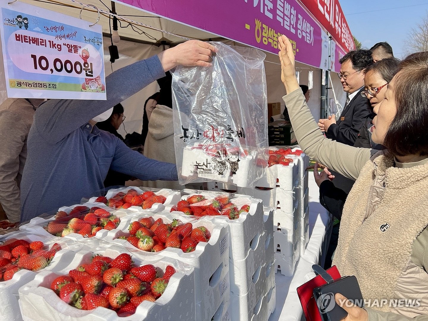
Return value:
M 341 278 L 336 265 L 333 265 L 326 272 L 333 278 L 333 280 Z M 317 273 L 316 270 L 315 273 Z M 322 321 L 320 312 L 318 311 L 317 302 L 314 297 L 314 288 L 318 288 L 324 284 L 327 284 L 327 281 L 323 278 L 323 276 L 317 275 L 313 279 L 297 288 L 297 295 L 299 297 L 300 304 L 302 305 L 306 321 Z

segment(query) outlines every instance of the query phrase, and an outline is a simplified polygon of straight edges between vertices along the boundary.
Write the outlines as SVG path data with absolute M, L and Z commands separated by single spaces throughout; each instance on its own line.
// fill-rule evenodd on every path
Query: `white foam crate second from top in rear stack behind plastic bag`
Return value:
M 255 199 L 261 199 L 263 205 L 279 209 L 285 213 L 293 213 L 297 208 L 298 188 L 292 191 L 282 190 L 281 188 L 272 188 L 270 190 L 238 187 L 238 193 L 249 195 Z

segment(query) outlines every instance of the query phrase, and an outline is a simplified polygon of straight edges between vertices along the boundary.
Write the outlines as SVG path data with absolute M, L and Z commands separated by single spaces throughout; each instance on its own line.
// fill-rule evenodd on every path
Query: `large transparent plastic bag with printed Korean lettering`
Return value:
M 211 67 L 172 72 L 178 181 L 252 187 L 268 160 L 266 55 L 211 44 L 218 49 Z

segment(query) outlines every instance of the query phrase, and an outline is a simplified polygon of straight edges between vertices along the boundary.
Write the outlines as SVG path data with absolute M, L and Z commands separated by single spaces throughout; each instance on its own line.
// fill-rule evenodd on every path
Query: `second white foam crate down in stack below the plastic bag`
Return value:
M 260 235 L 250 247 L 248 256 L 243 260 L 229 260 L 230 291 L 235 295 L 247 294 L 256 291 L 256 297 L 266 292 L 266 279 L 263 271 L 265 264 L 265 237 Z M 260 282 L 259 279 L 261 278 Z M 257 287 L 254 285 L 258 285 Z

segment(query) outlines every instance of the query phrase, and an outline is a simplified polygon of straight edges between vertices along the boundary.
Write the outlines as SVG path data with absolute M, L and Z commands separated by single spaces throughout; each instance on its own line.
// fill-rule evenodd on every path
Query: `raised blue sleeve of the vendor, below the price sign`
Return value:
M 37 109 L 33 125 L 48 142 L 57 143 L 163 76 L 165 72 L 157 55 L 135 62 L 106 77 L 107 100 L 51 99 Z

